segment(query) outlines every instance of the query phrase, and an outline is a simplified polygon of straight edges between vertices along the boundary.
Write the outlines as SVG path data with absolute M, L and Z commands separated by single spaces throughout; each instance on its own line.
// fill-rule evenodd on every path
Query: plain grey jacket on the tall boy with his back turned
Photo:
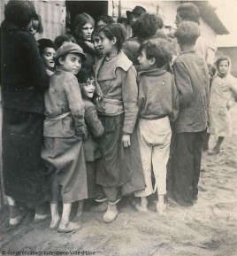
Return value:
M 199 53 L 190 50 L 181 52 L 172 67 L 180 100 L 175 130 L 178 133 L 203 131 L 207 128 L 210 100 L 207 64 Z

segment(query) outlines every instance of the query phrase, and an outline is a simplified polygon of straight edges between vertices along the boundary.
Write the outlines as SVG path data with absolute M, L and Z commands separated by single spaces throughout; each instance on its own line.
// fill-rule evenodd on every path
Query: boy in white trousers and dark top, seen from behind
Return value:
M 152 38 L 141 44 L 138 58 L 141 72 L 139 81 L 139 128 L 138 138 L 141 162 L 146 188 L 136 192 L 141 197 L 137 210 L 148 211 L 147 197 L 157 190 L 157 212 L 164 214 L 164 195 L 166 194 L 166 165 L 170 154 L 172 130 L 170 120 L 176 120 L 179 99 L 172 74 L 164 66 L 172 59 L 169 42 Z M 156 184 L 153 189 L 151 171 Z

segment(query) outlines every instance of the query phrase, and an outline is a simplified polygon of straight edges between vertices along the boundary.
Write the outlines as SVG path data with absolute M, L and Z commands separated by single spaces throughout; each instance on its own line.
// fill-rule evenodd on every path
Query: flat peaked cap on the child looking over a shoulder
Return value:
M 85 61 L 87 59 L 86 54 L 83 52 L 81 47 L 76 43 L 64 43 L 62 46 L 60 46 L 55 55 L 55 59 L 59 59 L 65 54 L 68 53 L 79 53 L 81 56 L 82 61 Z

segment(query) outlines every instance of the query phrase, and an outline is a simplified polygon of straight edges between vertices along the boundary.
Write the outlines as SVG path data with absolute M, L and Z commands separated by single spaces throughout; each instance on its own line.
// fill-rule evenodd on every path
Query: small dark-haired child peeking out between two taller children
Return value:
M 81 71 L 79 74 L 82 100 L 85 105 L 85 122 L 87 125 L 87 139 L 83 141 L 85 153 L 87 176 L 88 176 L 88 198 L 102 198 L 103 190 L 100 185 L 96 185 L 96 165 L 101 158 L 98 140 L 103 136 L 104 128 L 98 118 L 96 105 L 92 102 L 96 87 L 95 80 L 89 72 Z

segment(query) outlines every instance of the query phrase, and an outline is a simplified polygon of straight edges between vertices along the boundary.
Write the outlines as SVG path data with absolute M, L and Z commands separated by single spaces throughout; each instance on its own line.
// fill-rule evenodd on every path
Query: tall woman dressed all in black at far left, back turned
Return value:
M 35 14 L 33 2 L 11 0 L 1 25 L 3 174 L 11 225 L 22 219 L 16 202 L 37 203 L 35 220 L 45 217 L 37 206 L 47 199 L 41 146 L 50 77 L 34 36 L 26 32 Z

